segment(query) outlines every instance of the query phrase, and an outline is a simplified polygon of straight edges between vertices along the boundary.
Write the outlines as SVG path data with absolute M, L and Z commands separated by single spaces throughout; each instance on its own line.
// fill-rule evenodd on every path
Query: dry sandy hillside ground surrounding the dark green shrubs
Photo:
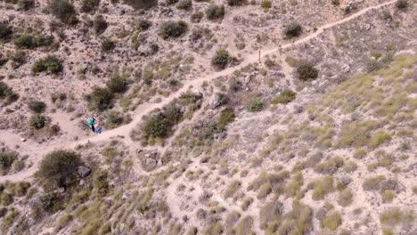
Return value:
M 220 21 L 191 23 L 191 13 L 174 6 L 138 17 L 125 4 L 102 1 L 98 11 L 109 22 L 102 36 L 86 30 L 86 23 L 65 27 L 57 49 L 23 50 L 26 63 L 0 67 L 4 83 L 20 95 L 2 107 L 0 142 L 23 162 L 0 176 L 2 231 L 417 234 L 415 3 L 408 2 L 406 11 L 397 9 L 397 1 L 339 6 L 273 1 L 265 11 L 255 3 L 227 6 Z M 52 33 L 47 3 L 37 2 L 29 12 L 2 4 L 2 20 L 20 33 L 51 32 L 57 38 L 62 33 Z M 341 10 L 346 5 L 355 7 Z M 193 2 L 192 11 L 207 7 Z M 80 13 L 78 18 L 93 16 Z M 138 18 L 151 20 L 151 28 L 135 29 Z M 184 19 L 192 29 L 163 40 L 159 25 L 168 19 Z M 282 30 L 291 20 L 303 31 L 289 39 Z M 195 42 L 189 37 L 195 28 L 209 28 L 213 36 Z M 159 51 L 143 56 L 135 36 L 144 38 L 139 47 L 156 42 Z M 103 37 L 116 41 L 112 52 L 102 53 Z M 4 55 L 17 50 L 12 43 L 1 46 Z M 239 62 L 214 69 L 217 48 Z M 33 61 L 51 52 L 61 59 L 63 71 L 31 73 Z M 318 69 L 314 81 L 298 79 L 303 61 Z M 146 85 L 149 71 L 152 83 Z M 85 95 L 115 74 L 129 79 L 129 89 L 116 94 L 113 108 L 125 120 L 110 126 L 109 111 L 99 112 L 104 132 L 90 134 L 79 123 L 92 112 Z M 178 85 L 168 86 L 170 79 Z M 240 85 L 238 91 L 230 88 L 233 83 Z M 285 89 L 296 98 L 274 102 Z M 53 103 L 56 93 L 67 98 Z M 150 113 L 175 106 L 184 93 L 201 93 L 200 108 L 165 139 L 144 140 L 141 130 Z M 228 101 L 213 107 L 218 93 Z M 41 130 L 29 126 L 30 99 L 46 103 L 49 120 Z M 254 111 L 249 102 L 255 99 L 261 108 Z M 213 130 L 226 109 L 233 109 L 233 121 Z M 53 124 L 60 130 L 51 134 Z M 62 149 L 77 151 L 93 174 L 80 185 L 45 187 L 36 175 L 41 161 Z M 29 190 L 20 192 L 23 181 Z

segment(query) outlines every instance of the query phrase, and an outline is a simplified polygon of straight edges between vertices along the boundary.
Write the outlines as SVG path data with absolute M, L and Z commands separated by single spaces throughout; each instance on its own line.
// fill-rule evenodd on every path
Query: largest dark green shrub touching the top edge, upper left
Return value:
M 67 0 L 52 0 L 49 2 L 49 11 L 64 23 L 77 24 L 77 12 Z

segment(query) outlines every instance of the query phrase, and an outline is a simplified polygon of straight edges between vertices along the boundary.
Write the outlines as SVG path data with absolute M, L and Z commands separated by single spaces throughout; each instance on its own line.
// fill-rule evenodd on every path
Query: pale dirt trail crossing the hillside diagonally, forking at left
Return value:
M 376 9 L 380 9 L 384 6 L 387 6 L 388 4 L 393 4 L 395 3 L 397 0 L 394 1 L 389 1 L 387 3 L 383 3 L 383 4 L 378 4 L 378 5 L 374 5 L 374 6 L 370 6 L 367 8 L 364 8 L 363 10 L 356 12 L 350 16 L 348 16 L 347 18 L 344 18 L 342 20 L 338 20 L 335 22 L 331 22 L 329 24 L 325 24 L 323 25 L 321 28 L 318 28 L 315 33 L 305 36 L 303 38 L 300 38 L 299 40 L 293 42 L 293 43 L 289 43 L 286 45 L 281 45 L 279 47 L 275 47 L 275 48 L 271 48 L 271 49 L 266 49 L 264 51 L 261 50 L 261 56 L 264 58 L 266 55 L 270 55 L 273 53 L 280 53 L 281 49 L 286 49 L 289 48 L 291 46 L 294 45 L 300 45 L 303 43 L 306 43 L 307 41 L 319 36 L 320 34 L 322 34 L 324 32 L 325 29 L 327 28 L 332 28 L 334 26 L 337 26 L 339 24 L 345 23 L 349 20 L 353 20 L 356 17 L 359 17 L 361 15 L 363 15 L 366 12 L 372 11 L 372 10 L 376 10 Z M 283 60 L 284 57 L 282 55 L 280 55 L 280 58 L 278 58 L 280 60 Z M 93 137 L 89 137 L 83 140 L 78 140 L 75 142 L 60 142 L 57 144 L 53 144 L 53 145 L 40 145 L 37 143 L 33 143 L 33 142 L 20 142 L 20 137 L 17 136 L 16 134 L 11 134 L 7 131 L 0 131 L 0 142 L 4 142 L 6 145 L 12 145 L 12 144 L 18 144 L 20 145 L 20 154 L 28 154 L 30 156 L 34 156 L 34 158 L 31 158 L 30 160 L 33 162 L 33 165 L 29 167 L 29 169 L 19 172 L 17 174 L 9 174 L 9 175 L 4 175 L 0 177 L 0 182 L 4 182 L 4 181 L 11 181 L 11 182 L 19 182 L 22 180 L 27 180 L 28 178 L 31 177 L 32 174 L 34 174 L 37 171 L 37 166 L 39 164 L 40 159 L 48 152 L 52 151 L 52 150 L 58 150 L 58 149 L 73 149 L 75 148 L 78 144 L 86 144 L 87 142 L 102 142 L 102 141 L 106 141 L 109 140 L 112 137 L 116 137 L 116 136 L 123 136 L 125 137 L 125 142 L 128 145 L 133 144 L 134 142 L 131 140 L 129 133 L 132 129 L 135 128 L 135 126 L 137 126 L 144 115 L 148 114 L 152 109 L 160 109 L 163 106 L 167 105 L 170 101 L 173 101 L 175 98 L 179 97 L 181 95 L 181 93 L 186 92 L 187 90 L 189 90 L 191 87 L 194 87 L 194 89 L 197 89 L 198 87 L 200 87 L 200 85 L 202 85 L 204 82 L 208 82 L 210 80 L 213 80 L 217 77 L 222 77 L 222 76 L 227 76 L 230 74 L 233 74 L 234 71 L 238 70 L 238 69 L 242 69 L 246 66 L 248 66 L 251 63 L 257 63 L 258 62 L 258 52 L 255 53 L 251 53 L 251 54 L 247 54 L 242 58 L 243 61 L 241 61 L 241 64 L 233 67 L 233 68 L 228 68 L 228 69 L 224 69 L 222 71 L 218 71 L 215 72 L 213 74 L 208 75 L 207 77 L 201 77 L 199 79 L 195 79 L 190 81 L 189 83 L 185 84 L 183 86 L 183 88 L 179 89 L 176 93 L 172 93 L 170 96 L 168 96 L 167 98 L 163 99 L 162 101 L 160 101 L 159 103 L 146 103 L 143 104 L 139 107 L 139 109 L 137 109 L 134 119 L 132 120 L 132 122 L 130 122 L 129 124 L 125 125 L 125 126 L 120 126 L 118 128 L 112 129 L 110 131 L 106 131 L 100 135 L 94 135 Z

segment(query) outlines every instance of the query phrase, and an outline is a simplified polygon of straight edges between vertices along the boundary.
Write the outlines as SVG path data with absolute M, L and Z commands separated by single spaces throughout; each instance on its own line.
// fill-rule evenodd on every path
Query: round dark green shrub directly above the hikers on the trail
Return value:
M 93 91 L 86 96 L 90 109 L 104 111 L 113 107 L 113 93 L 109 88 L 94 86 Z

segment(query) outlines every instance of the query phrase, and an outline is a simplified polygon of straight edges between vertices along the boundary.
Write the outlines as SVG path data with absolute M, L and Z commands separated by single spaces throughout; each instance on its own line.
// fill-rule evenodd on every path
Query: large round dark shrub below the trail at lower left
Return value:
M 54 150 L 42 159 L 37 174 L 46 183 L 66 187 L 78 178 L 77 170 L 80 165 L 81 158 L 77 153 Z

